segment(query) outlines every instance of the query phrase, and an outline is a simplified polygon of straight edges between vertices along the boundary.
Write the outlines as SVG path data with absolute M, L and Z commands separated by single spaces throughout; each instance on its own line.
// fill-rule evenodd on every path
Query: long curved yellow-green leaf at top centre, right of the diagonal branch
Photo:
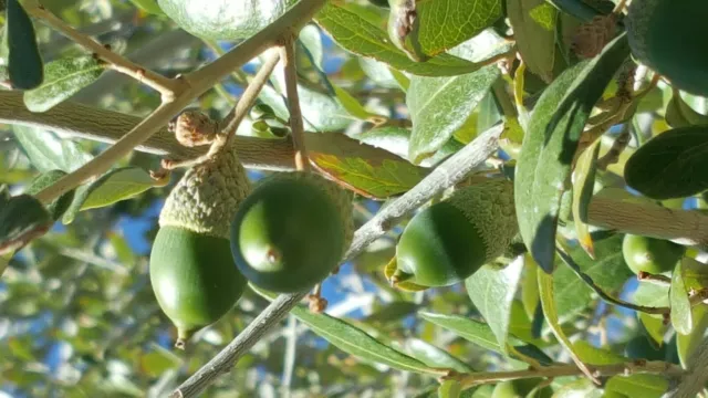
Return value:
M 345 50 L 384 62 L 399 71 L 420 76 L 452 76 L 481 67 L 480 64 L 449 54 L 440 54 L 427 62 L 412 61 L 391 42 L 384 30 L 346 3 L 329 1 L 315 15 L 315 21 Z

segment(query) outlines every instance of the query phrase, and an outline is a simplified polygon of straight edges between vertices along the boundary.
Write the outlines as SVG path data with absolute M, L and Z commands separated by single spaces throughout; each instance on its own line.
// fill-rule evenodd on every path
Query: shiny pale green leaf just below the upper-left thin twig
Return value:
M 32 112 L 46 112 L 95 82 L 105 66 L 93 55 L 65 57 L 44 65 L 44 82 L 24 92 L 24 105 Z

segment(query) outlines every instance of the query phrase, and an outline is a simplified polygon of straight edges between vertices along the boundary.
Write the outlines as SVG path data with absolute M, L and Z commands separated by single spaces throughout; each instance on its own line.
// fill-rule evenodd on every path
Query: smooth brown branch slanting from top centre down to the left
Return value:
M 42 202 L 50 202 L 63 193 L 88 181 L 96 175 L 107 171 L 123 156 L 133 148 L 143 144 L 181 108 L 189 105 L 191 101 L 208 91 L 214 84 L 232 70 L 240 67 L 243 63 L 252 60 L 258 54 L 272 46 L 285 32 L 299 31 L 308 23 L 314 14 L 324 6 L 326 0 L 300 1 L 288 10 L 278 20 L 273 21 L 266 29 L 241 42 L 238 46 L 229 51 L 223 56 L 212 63 L 179 77 L 186 82 L 180 87 L 187 87 L 177 96 L 163 98 L 160 105 L 147 118 L 135 126 L 125 136 L 121 137 L 111 148 L 98 155 L 84 166 L 61 178 L 52 186 L 40 191 L 35 197 Z

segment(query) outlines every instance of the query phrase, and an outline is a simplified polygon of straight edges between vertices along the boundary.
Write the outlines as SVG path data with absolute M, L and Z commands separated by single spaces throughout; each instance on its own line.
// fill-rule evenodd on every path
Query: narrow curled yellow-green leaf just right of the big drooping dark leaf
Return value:
M 575 232 L 581 247 L 593 259 L 595 258 L 595 249 L 593 239 L 590 235 L 590 226 L 587 224 L 587 208 L 595 186 L 600 143 L 601 140 L 597 139 L 583 151 L 577 158 L 575 170 L 573 171 L 573 221 L 575 223 Z

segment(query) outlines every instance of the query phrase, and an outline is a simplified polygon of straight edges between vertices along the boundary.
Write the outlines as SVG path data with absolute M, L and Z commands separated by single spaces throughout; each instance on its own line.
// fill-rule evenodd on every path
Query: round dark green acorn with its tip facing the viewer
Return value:
M 350 191 L 317 174 L 278 172 L 241 203 L 231 223 L 239 271 L 274 293 L 303 292 L 325 279 L 352 243 Z

